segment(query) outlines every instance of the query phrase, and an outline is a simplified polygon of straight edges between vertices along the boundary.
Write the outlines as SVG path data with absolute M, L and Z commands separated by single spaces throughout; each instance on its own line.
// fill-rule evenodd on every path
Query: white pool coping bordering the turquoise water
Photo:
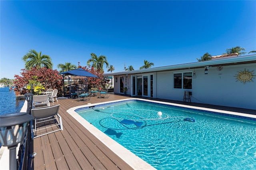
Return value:
M 74 117 L 82 126 L 84 126 L 87 130 L 89 130 L 96 138 L 98 138 L 103 144 L 105 144 L 110 150 L 112 150 L 115 154 L 117 154 L 122 160 L 124 160 L 127 164 L 129 164 L 132 168 L 136 170 L 155 170 L 153 166 L 148 164 L 146 161 L 142 160 L 136 154 L 132 153 L 130 150 L 126 149 L 124 146 L 116 142 L 114 139 L 110 138 L 108 135 L 104 134 L 104 132 L 100 131 L 98 128 L 94 127 L 92 124 L 90 124 L 88 121 L 86 121 L 84 118 L 82 118 L 78 113 L 76 113 L 76 110 L 80 110 L 82 108 L 86 109 L 88 107 L 94 107 L 98 105 L 106 105 L 110 103 L 116 103 L 116 102 L 123 102 L 123 101 L 147 101 L 150 103 L 160 103 L 164 105 L 171 105 L 174 107 L 181 107 L 186 109 L 192 109 L 192 110 L 200 110 L 204 111 L 206 113 L 220 113 L 232 115 L 232 117 L 246 117 L 249 119 L 253 119 L 256 121 L 256 115 L 250 115 L 246 113 L 239 113 L 239 112 L 233 112 L 233 111 L 223 111 L 219 109 L 210 109 L 206 107 L 197 107 L 197 106 L 190 106 L 190 105 L 182 105 L 177 103 L 169 103 L 169 102 L 163 102 L 163 101 L 152 101 L 148 99 L 138 99 L 138 98 L 130 98 L 130 99 L 122 99 L 122 100 L 115 100 L 115 101 L 108 101 L 108 102 L 102 102 L 102 103 L 88 103 L 87 105 L 81 105 L 77 107 L 72 107 L 67 110 L 67 112 Z

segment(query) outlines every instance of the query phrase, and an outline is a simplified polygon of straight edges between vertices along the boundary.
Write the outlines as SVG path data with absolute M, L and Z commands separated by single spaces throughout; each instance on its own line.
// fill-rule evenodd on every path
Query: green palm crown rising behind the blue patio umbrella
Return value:
M 104 63 L 106 64 L 106 68 L 108 68 L 108 65 L 109 65 L 106 56 L 100 55 L 99 57 L 97 57 L 97 55 L 94 53 L 91 53 L 91 58 L 88 59 L 87 65 L 90 65 L 90 63 L 92 63 L 91 65 L 92 67 L 99 69 L 101 71 L 104 71 L 103 70 Z

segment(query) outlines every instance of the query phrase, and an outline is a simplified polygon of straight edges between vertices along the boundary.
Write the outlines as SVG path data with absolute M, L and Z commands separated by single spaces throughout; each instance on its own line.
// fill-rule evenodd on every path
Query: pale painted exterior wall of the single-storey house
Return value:
M 221 71 L 211 67 L 208 74 L 204 74 L 204 68 L 154 72 L 154 98 L 183 101 L 184 90 L 188 90 L 192 91 L 191 102 L 194 103 L 256 109 L 256 77 L 252 78 L 253 82 L 245 84 L 235 77 L 244 69 L 253 71 L 253 75 L 256 75 L 255 63 L 225 65 Z M 196 79 L 192 79 L 192 89 L 174 89 L 174 73 L 194 70 Z M 115 76 L 118 77 L 118 82 L 115 82 L 114 77 L 115 93 L 119 93 L 119 77 L 122 76 L 125 77 Z M 131 83 L 131 75 L 128 77 Z M 130 90 L 131 88 L 127 94 L 131 94 Z

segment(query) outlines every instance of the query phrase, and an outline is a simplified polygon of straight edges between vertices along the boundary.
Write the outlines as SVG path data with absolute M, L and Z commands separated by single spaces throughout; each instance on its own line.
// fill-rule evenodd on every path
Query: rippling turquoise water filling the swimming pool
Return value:
M 161 120 L 146 120 L 158 119 L 158 111 L 162 112 Z M 76 112 L 159 170 L 256 169 L 255 120 L 142 101 Z M 184 121 L 185 117 L 195 122 Z M 123 119 L 142 125 L 120 123 Z

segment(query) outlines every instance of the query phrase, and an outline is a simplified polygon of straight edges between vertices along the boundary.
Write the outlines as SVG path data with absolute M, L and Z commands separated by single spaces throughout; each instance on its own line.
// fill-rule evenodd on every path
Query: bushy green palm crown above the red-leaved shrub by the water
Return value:
M 25 62 L 25 69 L 30 69 L 34 66 L 46 67 L 52 69 L 52 59 L 49 55 L 42 55 L 42 51 L 39 53 L 34 49 L 30 49 L 26 55 L 22 57 L 22 60 Z

